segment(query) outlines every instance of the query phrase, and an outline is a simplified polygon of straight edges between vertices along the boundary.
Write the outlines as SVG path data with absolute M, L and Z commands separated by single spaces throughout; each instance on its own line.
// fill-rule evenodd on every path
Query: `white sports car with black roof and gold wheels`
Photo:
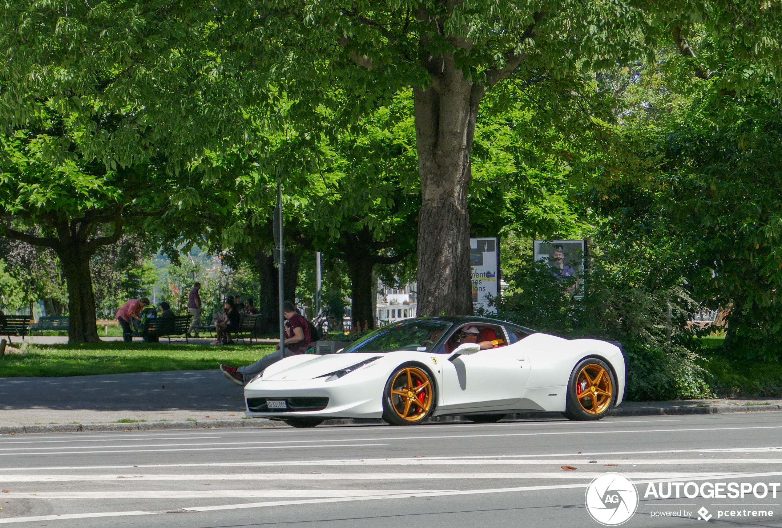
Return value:
M 478 317 L 407 319 L 337 354 L 299 354 L 245 387 L 246 415 L 317 426 L 326 418 L 429 416 L 495 422 L 518 411 L 599 420 L 622 403 L 625 357 L 598 339 L 562 339 Z

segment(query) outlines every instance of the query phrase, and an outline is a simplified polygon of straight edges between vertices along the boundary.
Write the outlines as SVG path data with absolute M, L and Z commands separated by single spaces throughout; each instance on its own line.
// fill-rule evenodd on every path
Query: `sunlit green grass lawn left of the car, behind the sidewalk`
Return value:
M 0 357 L 0 377 L 68 376 L 203 370 L 221 363 L 249 365 L 274 351 L 270 345 L 221 347 L 179 343 L 30 345 L 24 354 Z

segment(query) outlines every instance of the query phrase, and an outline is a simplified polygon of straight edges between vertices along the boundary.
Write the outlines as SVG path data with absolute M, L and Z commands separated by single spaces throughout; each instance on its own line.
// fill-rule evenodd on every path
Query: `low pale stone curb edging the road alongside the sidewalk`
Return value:
M 659 416 L 659 415 L 721 415 L 734 412 L 773 412 L 782 411 L 782 405 L 713 405 L 708 407 L 640 407 L 640 408 L 615 408 L 609 416 Z M 547 418 L 562 418 L 561 412 L 518 412 L 506 415 L 506 420 L 540 420 Z M 427 418 L 425 423 L 472 423 L 461 415 L 438 416 Z M 381 418 L 330 418 L 323 422 L 326 426 L 344 425 L 380 425 L 385 422 Z M 27 434 L 27 433 L 95 433 L 117 431 L 161 431 L 165 429 L 218 429 L 218 428 L 253 428 L 286 426 L 280 420 L 267 418 L 239 418 L 235 420 L 206 420 L 206 421 L 182 421 L 182 422 L 132 422 L 132 423 L 67 423 L 67 424 L 41 424 L 34 426 L 0 426 L 0 434 Z

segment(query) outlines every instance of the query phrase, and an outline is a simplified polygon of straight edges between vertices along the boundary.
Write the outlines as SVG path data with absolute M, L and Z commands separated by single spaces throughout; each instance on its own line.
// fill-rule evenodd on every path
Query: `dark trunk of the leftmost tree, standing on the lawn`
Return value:
M 100 343 L 95 322 L 90 255 L 78 249 L 58 252 L 68 286 L 68 343 Z

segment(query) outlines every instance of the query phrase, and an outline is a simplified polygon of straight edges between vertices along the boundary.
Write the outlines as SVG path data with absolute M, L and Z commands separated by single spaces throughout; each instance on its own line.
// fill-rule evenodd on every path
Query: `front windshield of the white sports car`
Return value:
M 393 350 L 418 350 L 429 352 L 437 340 L 453 325 L 435 319 L 411 319 L 375 330 L 357 343 L 343 350 L 351 352 L 391 352 Z

